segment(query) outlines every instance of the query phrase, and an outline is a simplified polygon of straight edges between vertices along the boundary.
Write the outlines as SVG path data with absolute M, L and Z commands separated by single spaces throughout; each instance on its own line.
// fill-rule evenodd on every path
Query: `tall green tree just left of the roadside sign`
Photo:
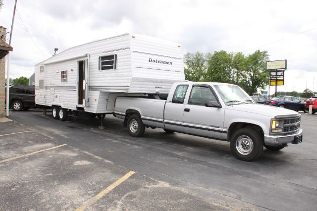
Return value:
M 258 88 L 264 89 L 267 85 L 269 75 L 265 69 L 266 61 L 268 61 L 267 51 L 258 50 L 247 56 L 240 86 L 249 95 L 256 93 Z

